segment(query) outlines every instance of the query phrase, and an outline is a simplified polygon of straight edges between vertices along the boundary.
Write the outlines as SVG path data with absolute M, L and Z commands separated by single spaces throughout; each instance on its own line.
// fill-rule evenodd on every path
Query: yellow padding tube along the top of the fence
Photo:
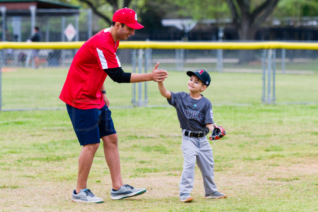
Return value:
M 85 41 L 75 42 L 0 42 L 0 49 L 78 49 Z M 298 49 L 318 50 L 318 43 L 305 42 L 181 42 L 121 41 L 121 49 Z

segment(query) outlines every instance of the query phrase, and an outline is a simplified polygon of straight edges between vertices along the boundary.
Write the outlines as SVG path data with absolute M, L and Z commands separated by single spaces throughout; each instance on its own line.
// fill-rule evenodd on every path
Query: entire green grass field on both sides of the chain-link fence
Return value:
M 262 105 L 258 73 L 211 72 L 212 85 L 203 92 L 211 100 L 214 119 L 227 131 L 211 146 L 215 182 L 228 198 L 205 200 L 196 168 L 194 201 L 180 202 L 183 156 L 175 109 L 166 107 L 155 82 L 147 82 L 148 105 L 164 107 L 119 108 L 132 105 L 132 84 L 106 79 L 123 181 L 147 192 L 110 199 L 101 144 L 88 187 L 105 202 L 72 202 L 81 147 L 58 99 L 66 74 L 66 69 L 2 73 L 2 108 L 8 111 L 0 112 L 0 211 L 318 210 L 318 104 Z M 277 74 L 276 80 L 276 102 L 317 102 L 317 74 Z M 188 92 L 187 81 L 184 72 L 169 71 L 165 86 Z M 35 110 L 12 111 L 17 108 Z

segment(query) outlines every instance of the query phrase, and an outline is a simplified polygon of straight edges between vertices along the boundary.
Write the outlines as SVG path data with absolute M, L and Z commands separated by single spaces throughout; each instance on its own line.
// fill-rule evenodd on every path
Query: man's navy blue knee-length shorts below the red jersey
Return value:
M 68 115 L 81 146 L 100 143 L 100 138 L 116 133 L 111 111 L 105 105 L 101 109 L 78 109 L 66 104 Z

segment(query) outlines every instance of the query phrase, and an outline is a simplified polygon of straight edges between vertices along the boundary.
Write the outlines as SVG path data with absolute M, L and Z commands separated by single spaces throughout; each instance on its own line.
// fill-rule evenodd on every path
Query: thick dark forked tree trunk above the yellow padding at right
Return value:
M 225 0 L 232 14 L 232 24 L 238 30 L 239 39 L 253 40 L 260 25 L 275 9 L 280 0 L 266 0 L 252 7 L 251 0 Z

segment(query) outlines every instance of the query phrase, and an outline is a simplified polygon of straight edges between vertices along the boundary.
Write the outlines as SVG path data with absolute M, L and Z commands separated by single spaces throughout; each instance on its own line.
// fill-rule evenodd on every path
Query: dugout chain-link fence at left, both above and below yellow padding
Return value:
M 32 11 L 16 13 L 1 16 L 1 41 L 30 41 L 34 33 L 32 25 L 39 28 L 40 42 L 80 41 L 92 36 L 92 11 L 88 9 L 37 9 L 33 21 Z M 42 67 L 66 67 L 71 64 L 76 51 L 41 49 L 38 51 L 39 63 Z M 34 68 L 33 52 L 4 49 L 2 66 Z

